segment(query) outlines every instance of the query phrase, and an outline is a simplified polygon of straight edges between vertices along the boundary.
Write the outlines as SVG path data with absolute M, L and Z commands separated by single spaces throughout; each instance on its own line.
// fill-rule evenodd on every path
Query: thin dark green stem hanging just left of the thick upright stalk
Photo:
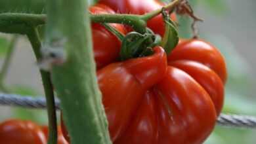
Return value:
M 35 53 L 37 62 L 41 60 L 41 41 L 39 38 L 39 33 L 35 27 L 32 27 L 30 31 L 27 31 L 28 39 Z M 56 108 L 54 103 L 54 92 L 53 84 L 51 83 L 51 75 L 47 71 L 40 70 L 41 78 L 43 81 L 43 88 L 45 90 L 45 97 L 47 101 L 47 114 L 48 114 L 48 123 L 49 123 L 49 139 L 48 144 L 57 143 L 57 121 L 56 121 Z

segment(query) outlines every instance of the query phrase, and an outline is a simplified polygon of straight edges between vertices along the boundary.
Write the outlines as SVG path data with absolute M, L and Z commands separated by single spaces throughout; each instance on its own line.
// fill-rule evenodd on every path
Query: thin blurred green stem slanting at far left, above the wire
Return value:
M 3 92 L 6 92 L 6 93 L 8 93 L 9 90 L 5 87 L 4 81 L 5 81 L 7 71 L 10 67 L 10 63 L 11 63 L 11 60 L 12 60 L 12 56 L 13 56 L 13 52 L 14 52 L 14 48 L 15 48 L 15 44 L 16 44 L 17 39 L 18 39 L 18 35 L 14 35 L 12 37 L 11 42 L 9 44 L 7 54 L 5 56 L 5 61 L 3 62 L 3 66 L 2 66 L 1 71 L 0 71 L 0 90 L 3 91 Z

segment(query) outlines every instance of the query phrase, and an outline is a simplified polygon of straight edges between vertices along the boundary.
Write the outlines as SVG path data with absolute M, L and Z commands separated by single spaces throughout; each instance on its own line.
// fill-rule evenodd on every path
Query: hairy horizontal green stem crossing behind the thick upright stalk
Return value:
M 146 31 L 146 22 L 141 20 L 140 15 L 90 14 L 90 17 L 91 22 L 126 24 L 140 33 Z M 29 27 L 45 24 L 46 18 L 47 16 L 45 14 L 3 13 L 0 14 L 0 31 L 5 33 L 26 34 Z

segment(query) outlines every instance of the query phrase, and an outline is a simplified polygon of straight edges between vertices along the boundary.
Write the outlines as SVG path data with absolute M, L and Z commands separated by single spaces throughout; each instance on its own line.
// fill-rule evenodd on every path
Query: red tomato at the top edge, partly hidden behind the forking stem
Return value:
M 163 3 L 156 0 L 100 0 L 99 3 L 108 5 L 121 14 L 145 14 L 156 9 L 161 9 L 161 7 L 164 6 Z M 175 20 L 175 14 L 172 14 L 171 18 Z M 165 24 L 161 14 L 149 20 L 148 27 L 155 33 L 163 36 L 165 32 Z

